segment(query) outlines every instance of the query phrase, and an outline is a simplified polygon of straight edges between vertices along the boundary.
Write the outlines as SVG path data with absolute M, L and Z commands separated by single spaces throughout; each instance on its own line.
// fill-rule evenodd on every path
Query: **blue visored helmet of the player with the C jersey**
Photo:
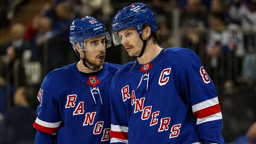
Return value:
M 115 46 L 122 42 L 122 38 L 118 36 L 119 30 L 135 27 L 137 32 L 142 34 L 142 26 L 146 23 L 153 32 L 157 31 L 155 14 L 143 3 L 134 3 L 118 11 L 113 19 L 111 32 Z

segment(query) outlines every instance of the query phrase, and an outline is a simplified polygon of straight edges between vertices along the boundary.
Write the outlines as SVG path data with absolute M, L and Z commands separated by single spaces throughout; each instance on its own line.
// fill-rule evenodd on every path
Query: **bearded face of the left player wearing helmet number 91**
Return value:
M 86 39 L 84 43 L 87 65 L 91 67 L 102 66 L 106 56 L 105 35 Z

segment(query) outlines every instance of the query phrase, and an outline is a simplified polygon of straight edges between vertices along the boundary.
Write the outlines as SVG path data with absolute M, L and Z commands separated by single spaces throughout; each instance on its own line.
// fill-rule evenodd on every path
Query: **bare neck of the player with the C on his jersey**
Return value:
M 146 64 L 151 62 L 160 52 L 162 48 L 158 44 L 153 44 L 152 41 L 148 41 L 146 49 L 141 57 L 138 57 L 139 64 Z

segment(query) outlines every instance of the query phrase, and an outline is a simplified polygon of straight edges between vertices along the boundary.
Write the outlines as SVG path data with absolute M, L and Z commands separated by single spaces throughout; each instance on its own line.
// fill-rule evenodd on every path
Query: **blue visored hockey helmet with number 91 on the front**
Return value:
M 86 16 L 72 22 L 69 29 L 69 41 L 74 51 L 76 51 L 75 43 L 79 43 L 79 48 L 85 51 L 84 40 L 104 34 L 106 38 L 106 48 L 108 48 L 112 45 L 112 39 L 109 32 L 105 30 L 105 25 L 100 21 L 91 16 Z

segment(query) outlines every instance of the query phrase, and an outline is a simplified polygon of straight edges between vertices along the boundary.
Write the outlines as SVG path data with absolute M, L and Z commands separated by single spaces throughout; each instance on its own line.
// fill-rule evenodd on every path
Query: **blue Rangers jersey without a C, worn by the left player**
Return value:
M 104 62 L 100 73 L 85 76 L 76 63 L 53 70 L 37 99 L 36 144 L 108 144 L 111 80 L 121 65 Z

